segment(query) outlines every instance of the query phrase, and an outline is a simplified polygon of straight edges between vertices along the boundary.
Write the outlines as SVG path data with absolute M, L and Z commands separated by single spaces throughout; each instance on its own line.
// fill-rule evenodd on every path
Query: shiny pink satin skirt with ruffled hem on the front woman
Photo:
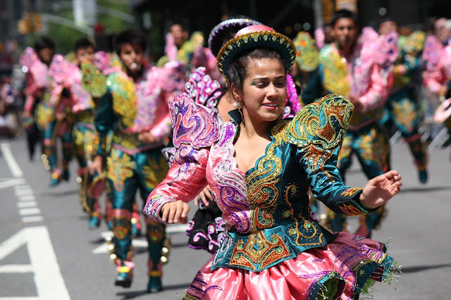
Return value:
M 308 249 L 259 272 L 242 268 L 199 270 L 183 299 L 358 299 L 375 281 L 385 280 L 393 258 L 380 242 L 340 232 L 330 244 Z

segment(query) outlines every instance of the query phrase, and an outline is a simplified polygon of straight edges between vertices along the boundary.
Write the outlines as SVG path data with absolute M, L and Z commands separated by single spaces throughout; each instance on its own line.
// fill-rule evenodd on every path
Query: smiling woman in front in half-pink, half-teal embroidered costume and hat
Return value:
M 384 204 L 402 182 L 392 170 L 363 189 L 343 184 L 335 164 L 352 104 L 342 96 L 281 119 L 295 52 L 271 27 L 245 27 L 217 56 L 238 102 L 232 120 L 218 123 L 188 94 L 170 104 L 177 152 L 144 212 L 186 223 L 186 202 L 209 185 L 227 223 L 226 239 L 184 299 L 357 299 L 390 278 L 393 258 L 383 244 L 334 235 L 309 216 L 309 187 L 335 211 L 357 215 Z

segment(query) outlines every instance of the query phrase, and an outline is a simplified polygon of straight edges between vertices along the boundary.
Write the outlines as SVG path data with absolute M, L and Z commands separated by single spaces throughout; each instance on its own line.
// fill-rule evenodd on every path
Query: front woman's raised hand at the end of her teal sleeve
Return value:
M 395 170 L 374 177 L 369 180 L 362 194 L 360 194 L 360 203 L 364 208 L 379 207 L 399 193 L 401 185 L 401 175 Z

